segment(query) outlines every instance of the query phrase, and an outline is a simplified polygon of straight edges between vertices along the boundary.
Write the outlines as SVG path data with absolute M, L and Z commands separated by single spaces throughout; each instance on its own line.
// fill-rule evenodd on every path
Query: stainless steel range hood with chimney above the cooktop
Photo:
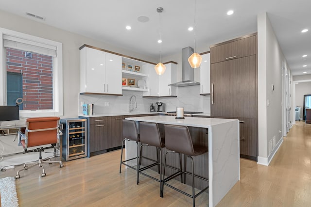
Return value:
M 171 84 L 171 86 L 190 86 L 200 85 L 200 82 L 194 81 L 194 69 L 190 66 L 188 58 L 193 53 L 193 48 L 187 47 L 182 49 L 182 65 L 181 65 L 181 78 L 182 81 Z

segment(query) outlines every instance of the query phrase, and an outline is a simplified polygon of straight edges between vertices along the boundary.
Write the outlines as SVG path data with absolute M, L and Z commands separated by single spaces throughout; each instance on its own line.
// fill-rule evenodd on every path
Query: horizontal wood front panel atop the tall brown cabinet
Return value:
M 257 35 L 210 48 L 210 63 L 241 58 L 257 53 Z

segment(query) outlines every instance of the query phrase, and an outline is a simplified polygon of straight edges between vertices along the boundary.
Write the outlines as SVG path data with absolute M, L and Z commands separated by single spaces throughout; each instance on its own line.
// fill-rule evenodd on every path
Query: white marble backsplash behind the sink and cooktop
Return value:
M 137 108 L 133 112 L 149 112 L 150 103 L 161 101 L 165 111 L 175 111 L 183 107 L 184 111 L 203 111 L 210 113 L 210 96 L 200 96 L 200 86 L 185 86 L 177 88 L 177 97 L 150 98 L 142 97 L 142 92 L 123 91 L 123 96 L 79 95 L 79 114 L 82 114 L 82 104 L 94 104 L 94 114 L 128 113 L 130 97 L 136 96 Z M 134 103 L 134 101 L 133 101 Z

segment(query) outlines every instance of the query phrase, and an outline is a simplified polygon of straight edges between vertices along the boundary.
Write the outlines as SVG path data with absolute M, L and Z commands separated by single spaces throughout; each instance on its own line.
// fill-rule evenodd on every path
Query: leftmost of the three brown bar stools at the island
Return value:
M 135 121 L 123 119 L 122 120 L 122 133 L 123 133 L 123 140 L 122 140 L 122 145 L 121 145 L 120 173 L 121 173 L 121 165 L 122 164 L 129 167 L 129 168 L 137 170 L 137 183 L 138 183 L 138 167 L 135 168 L 135 167 L 126 163 L 127 161 L 137 159 L 137 166 L 139 166 L 139 163 L 138 163 L 138 161 L 139 161 L 138 160 L 138 158 L 139 158 L 139 155 L 138 155 L 139 144 L 138 144 L 138 142 L 140 142 L 140 140 L 139 140 L 138 129 L 137 129 Z M 125 141 L 135 141 L 137 143 L 137 157 L 122 161 L 123 145 L 124 145 Z

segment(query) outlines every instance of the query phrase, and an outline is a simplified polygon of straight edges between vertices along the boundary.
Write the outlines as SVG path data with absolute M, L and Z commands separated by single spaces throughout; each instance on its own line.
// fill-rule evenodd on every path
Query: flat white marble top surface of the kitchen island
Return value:
M 161 116 L 161 115 L 128 117 L 125 119 L 134 121 L 156 122 L 159 124 L 176 124 L 181 126 L 202 127 L 202 128 L 237 121 L 237 119 L 218 119 L 218 118 L 204 118 L 204 117 L 185 117 L 185 119 L 175 119 L 175 116 Z

